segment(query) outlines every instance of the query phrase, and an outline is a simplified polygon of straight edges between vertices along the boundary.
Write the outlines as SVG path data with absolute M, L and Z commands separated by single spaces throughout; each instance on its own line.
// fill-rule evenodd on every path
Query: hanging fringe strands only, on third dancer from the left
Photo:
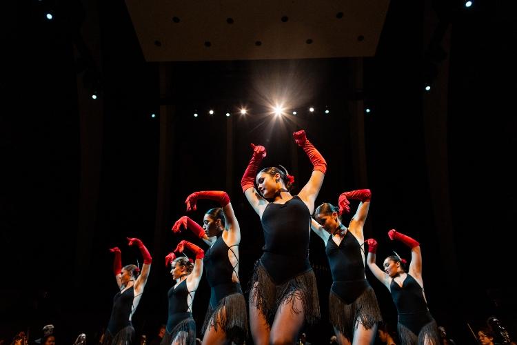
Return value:
M 221 327 L 226 333 L 227 339 L 234 342 L 247 337 L 247 308 L 244 295 L 232 293 L 221 299 L 216 308 L 210 304 L 205 315 L 205 322 L 201 329 L 201 334 L 209 327 L 214 327 L 215 331 Z

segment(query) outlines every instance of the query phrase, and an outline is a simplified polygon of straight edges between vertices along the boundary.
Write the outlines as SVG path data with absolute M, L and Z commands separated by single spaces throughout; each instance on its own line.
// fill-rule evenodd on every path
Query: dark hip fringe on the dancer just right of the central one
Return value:
M 345 304 L 334 291 L 329 295 L 329 322 L 343 333 L 349 341 L 354 339 L 356 321 L 366 329 L 374 327 L 383 317 L 378 307 L 374 289 L 368 287 L 351 304 Z

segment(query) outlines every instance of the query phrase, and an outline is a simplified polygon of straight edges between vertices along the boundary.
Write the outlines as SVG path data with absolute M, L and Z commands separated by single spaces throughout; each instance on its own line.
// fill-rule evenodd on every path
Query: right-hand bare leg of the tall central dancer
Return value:
M 297 311 L 297 312 L 296 312 Z M 305 311 L 300 292 L 294 293 L 294 298 L 284 302 L 274 315 L 271 327 L 271 344 L 293 344 L 305 322 Z

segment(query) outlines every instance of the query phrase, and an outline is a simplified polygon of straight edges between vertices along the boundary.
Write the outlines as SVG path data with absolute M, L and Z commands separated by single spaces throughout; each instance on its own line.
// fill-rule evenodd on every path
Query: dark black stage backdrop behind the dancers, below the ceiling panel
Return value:
M 172 284 L 163 257 L 179 242 L 170 226 L 185 214 L 183 201 L 195 190 L 230 194 L 241 224 L 240 275 L 247 286 L 263 244 L 259 218 L 239 185 L 249 144 L 266 146 L 263 164 L 285 165 L 299 188 L 311 170 L 292 140 L 301 128 L 329 165 L 316 205 L 336 203 L 345 190 L 370 188 L 365 238 L 379 240 L 379 258 L 393 249 L 409 254 L 389 242 L 390 228 L 420 241 L 429 309 L 457 344 L 475 344 L 469 326 L 475 330 L 491 315 L 517 337 L 511 283 L 517 220 L 514 1 L 478 1 L 454 12 L 445 55 L 440 58 L 438 49 L 432 59 L 423 42 L 424 4 L 393 0 L 375 57 L 363 59 L 363 90 L 347 82 L 356 68 L 349 58 L 178 62 L 168 65 L 172 92 L 165 97 L 159 63 L 143 58 L 123 1 L 95 3 L 99 27 L 92 42 L 79 34 L 90 20 L 79 2 L 55 1 L 67 16 L 52 25 L 39 19 L 43 4 L 18 1 L 4 35 L 0 339 L 10 342 L 21 330 L 35 339 L 52 323 L 59 344 L 71 344 L 82 332 L 96 342 L 116 293 L 108 248 L 121 248 L 123 264 L 141 258 L 125 237 L 141 238 L 154 258 L 133 319 L 138 335 L 154 338 L 166 321 Z M 434 6 L 439 11 L 440 1 Z M 100 53 L 102 66 L 93 67 L 89 52 Z M 287 121 L 259 112 L 225 117 L 225 107 L 239 102 L 258 109 L 261 81 L 294 83 L 292 75 L 303 81 L 296 84 L 301 91 L 295 95 L 303 95 L 299 109 L 313 102 L 320 111 Z M 431 92 L 423 91 L 427 75 L 436 81 Z M 80 101 L 96 86 L 98 103 Z M 357 164 L 350 129 L 349 103 L 358 99 L 372 108 L 360 146 L 365 170 Z M 448 101 L 446 113 L 433 114 L 436 99 Z M 167 119 L 160 112 L 165 105 L 174 108 Z M 206 115 L 210 106 L 216 109 L 212 117 Z M 330 115 L 322 106 L 330 107 Z M 201 222 L 212 206 L 200 201 L 190 216 Z M 185 238 L 195 242 L 188 233 Z M 330 273 L 316 236 L 310 259 L 323 319 L 306 331 L 313 344 L 323 344 L 331 333 Z M 367 274 L 385 319 L 395 324 L 389 293 Z M 208 297 L 203 279 L 194 302 L 199 325 Z

